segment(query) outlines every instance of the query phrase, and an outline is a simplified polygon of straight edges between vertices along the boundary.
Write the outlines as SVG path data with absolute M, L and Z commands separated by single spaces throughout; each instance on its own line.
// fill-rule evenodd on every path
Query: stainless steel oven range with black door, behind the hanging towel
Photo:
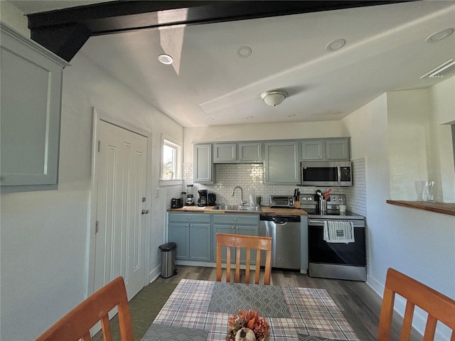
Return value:
M 310 200 L 311 198 L 311 200 Z M 305 200 L 304 200 L 305 199 Z M 301 195 L 308 216 L 309 276 L 366 281 L 365 217 L 340 212 L 344 195 L 330 195 L 328 210 L 319 211 L 314 195 Z M 334 243 L 324 240 L 324 222 L 352 222 L 354 242 Z

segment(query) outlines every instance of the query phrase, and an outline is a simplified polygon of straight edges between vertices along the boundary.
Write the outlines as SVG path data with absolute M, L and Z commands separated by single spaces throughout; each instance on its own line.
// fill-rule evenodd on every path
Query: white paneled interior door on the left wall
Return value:
M 147 139 L 100 121 L 95 291 L 123 276 L 131 299 L 144 287 Z

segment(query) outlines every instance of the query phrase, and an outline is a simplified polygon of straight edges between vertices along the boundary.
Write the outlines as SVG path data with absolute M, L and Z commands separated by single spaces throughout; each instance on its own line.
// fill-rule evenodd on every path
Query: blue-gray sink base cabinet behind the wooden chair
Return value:
M 243 234 L 248 236 L 259 235 L 259 215 L 213 215 L 213 261 L 216 261 L 216 234 Z M 223 248 L 221 259 L 226 261 L 226 251 Z M 240 262 L 245 263 L 246 251 L 242 250 Z M 251 254 L 256 259 L 256 254 Z M 231 252 L 231 261 L 235 261 L 235 253 Z

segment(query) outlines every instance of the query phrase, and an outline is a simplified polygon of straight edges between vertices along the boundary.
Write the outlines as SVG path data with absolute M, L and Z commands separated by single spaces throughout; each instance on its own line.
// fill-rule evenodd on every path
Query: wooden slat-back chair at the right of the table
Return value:
M 395 293 L 407 300 L 400 341 L 410 339 L 414 306 L 428 313 L 423 341 L 434 340 L 437 321 L 451 328 L 455 341 L 455 301 L 405 274 L 389 268 L 385 279 L 384 297 L 379 321 L 378 341 L 389 341 L 392 328 Z

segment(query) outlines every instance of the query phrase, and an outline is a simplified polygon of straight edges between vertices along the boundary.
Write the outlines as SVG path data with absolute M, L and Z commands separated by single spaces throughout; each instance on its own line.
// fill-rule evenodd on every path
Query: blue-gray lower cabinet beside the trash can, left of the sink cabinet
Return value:
M 177 244 L 176 260 L 211 261 L 211 215 L 171 212 L 168 242 Z

